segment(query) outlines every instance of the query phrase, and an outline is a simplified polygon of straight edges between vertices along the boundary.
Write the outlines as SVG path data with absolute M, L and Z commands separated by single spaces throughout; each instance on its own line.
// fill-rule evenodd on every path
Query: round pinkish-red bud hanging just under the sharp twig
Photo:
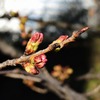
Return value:
M 42 68 L 47 62 L 46 56 L 44 54 L 41 54 L 34 58 L 34 62 L 36 67 Z

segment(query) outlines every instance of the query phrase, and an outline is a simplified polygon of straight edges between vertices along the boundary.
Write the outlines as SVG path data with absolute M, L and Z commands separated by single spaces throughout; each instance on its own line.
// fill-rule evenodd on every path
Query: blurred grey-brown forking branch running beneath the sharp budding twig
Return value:
M 48 90 L 54 92 L 58 97 L 60 97 L 63 100 L 87 100 L 87 98 L 75 92 L 67 85 L 62 85 L 62 83 L 55 78 L 53 78 L 46 68 L 43 68 L 40 70 L 39 75 L 31 75 L 25 71 L 15 69 L 11 71 L 0 71 L 0 74 L 3 74 L 7 77 L 11 78 L 17 78 L 22 80 L 29 80 L 34 82 L 40 82 L 41 85 L 45 87 L 45 89 L 41 89 L 39 87 L 34 87 L 31 85 L 32 90 L 36 90 L 39 93 L 46 93 Z M 38 88 L 38 89 L 37 89 Z

